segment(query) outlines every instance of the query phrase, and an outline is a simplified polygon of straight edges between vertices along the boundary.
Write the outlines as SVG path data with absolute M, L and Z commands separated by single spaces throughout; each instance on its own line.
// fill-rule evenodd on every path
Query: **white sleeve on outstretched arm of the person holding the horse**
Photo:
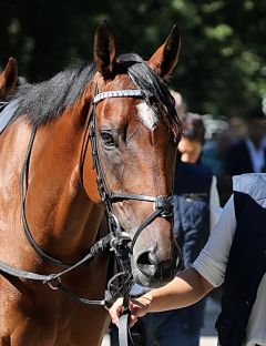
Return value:
M 224 282 L 229 250 L 235 234 L 236 218 L 234 199 L 231 196 L 225 204 L 218 223 L 209 235 L 209 238 L 192 264 L 203 277 L 213 286 L 219 286 Z

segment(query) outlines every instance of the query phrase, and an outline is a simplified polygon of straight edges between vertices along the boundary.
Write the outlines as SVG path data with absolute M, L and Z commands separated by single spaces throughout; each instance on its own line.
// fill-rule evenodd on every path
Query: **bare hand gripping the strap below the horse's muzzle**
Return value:
M 137 317 L 142 317 L 149 313 L 150 304 L 152 302 L 152 297 L 145 294 L 136 299 L 131 299 L 129 302 L 129 309 L 131 312 L 130 316 L 130 325 L 134 325 L 137 320 Z M 109 314 L 112 318 L 112 323 L 119 326 L 120 315 L 122 313 L 123 298 L 119 298 L 109 309 Z

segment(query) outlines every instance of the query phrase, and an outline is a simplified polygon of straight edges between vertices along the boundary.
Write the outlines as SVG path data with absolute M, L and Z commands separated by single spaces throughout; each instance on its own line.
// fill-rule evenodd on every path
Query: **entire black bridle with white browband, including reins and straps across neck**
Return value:
M 78 263 L 75 264 L 68 264 L 63 263 L 61 261 L 58 261 L 48 254 L 45 254 L 34 242 L 25 217 L 25 196 L 28 192 L 28 171 L 29 171 L 29 161 L 30 155 L 35 138 L 37 129 L 33 128 L 31 138 L 28 144 L 28 150 L 25 153 L 24 163 L 21 171 L 20 176 L 20 195 L 21 195 L 21 217 L 23 223 L 23 228 L 25 236 L 33 247 L 33 250 L 38 253 L 38 255 L 47 263 L 50 263 L 55 266 L 61 266 L 64 269 L 58 274 L 50 274 L 50 275 L 41 275 L 35 274 L 27 271 L 22 271 L 19 268 L 14 268 L 12 266 L 9 266 L 0 261 L 0 272 L 7 273 L 12 276 L 17 277 L 24 277 L 34 281 L 41 281 L 49 285 L 52 289 L 61 289 L 63 293 L 65 293 L 68 296 L 70 296 L 72 299 L 89 304 L 89 305 L 103 305 L 106 306 L 111 299 L 113 299 L 117 295 L 124 296 L 124 302 L 127 301 L 130 289 L 133 285 L 133 278 L 131 273 L 131 265 L 130 265 L 130 256 L 133 253 L 133 247 L 136 243 L 137 237 L 140 236 L 141 232 L 150 224 L 152 223 L 156 217 L 168 217 L 172 215 L 172 196 L 151 196 L 145 194 L 136 194 L 136 193 L 130 193 L 130 192 L 111 192 L 102 169 L 100 154 L 99 154 L 99 143 L 98 143 L 98 129 L 96 129 L 96 105 L 102 100 L 109 99 L 109 98 L 140 98 L 140 99 L 146 99 L 145 93 L 141 90 L 133 89 L 133 90 L 120 90 L 120 91 L 108 91 L 108 92 L 101 92 L 96 93 L 95 96 L 92 100 L 92 109 L 91 113 L 88 116 L 88 121 L 85 124 L 85 132 L 83 138 L 83 144 L 81 150 L 81 159 L 80 159 L 80 176 L 82 181 L 82 176 L 84 173 L 84 160 L 86 155 L 88 144 L 89 141 L 91 141 L 91 147 L 92 147 L 92 155 L 93 155 L 93 166 L 96 172 L 96 184 L 98 184 L 98 191 L 101 197 L 101 201 L 104 205 L 104 212 L 109 221 L 109 228 L 110 233 L 102 237 L 100 241 L 98 241 L 93 246 L 91 246 L 89 253 Z M 133 238 L 130 237 L 129 233 L 126 233 L 120 225 L 120 222 L 117 217 L 113 213 L 113 203 L 117 201 L 124 201 L 124 200 L 135 200 L 135 201 L 144 201 L 144 202 L 152 202 L 154 203 L 154 212 L 144 220 L 144 222 L 139 226 L 136 230 Z M 83 297 L 80 297 L 75 295 L 74 293 L 70 292 L 61 281 L 61 277 L 75 269 L 76 267 L 80 267 L 81 265 L 88 264 L 88 262 L 93 258 L 99 252 L 104 251 L 105 248 L 109 248 L 114 252 L 116 260 L 119 262 L 119 267 L 121 272 L 116 275 L 114 275 L 108 285 L 108 294 L 104 299 L 102 301 L 92 301 L 86 299 Z M 120 286 L 115 286 L 114 279 L 122 278 L 122 284 Z

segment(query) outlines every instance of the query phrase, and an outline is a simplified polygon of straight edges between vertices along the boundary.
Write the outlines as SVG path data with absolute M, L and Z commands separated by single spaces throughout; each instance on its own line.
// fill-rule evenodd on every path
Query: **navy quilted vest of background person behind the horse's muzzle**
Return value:
M 213 174 L 203 164 L 177 162 L 174 180 L 174 234 L 182 250 L 183 268 L 188 267 L 209 235 L 209 192 Z M 205 299 L 176 309 L 186 328 L 201 328 Z

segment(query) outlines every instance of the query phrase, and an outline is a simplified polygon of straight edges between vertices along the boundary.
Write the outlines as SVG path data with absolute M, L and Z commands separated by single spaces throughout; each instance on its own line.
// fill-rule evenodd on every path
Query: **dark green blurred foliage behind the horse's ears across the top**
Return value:
M 191 111 L 242 114 L 266 94 L 266 0 L 2 0 L 0 12 L 0 63 L 16 57 L 30 82 L 92 60 L 94 31 L 105 19 L 117 54 L 145 59 L 178 24 L 182 49 L 170 85 Z

